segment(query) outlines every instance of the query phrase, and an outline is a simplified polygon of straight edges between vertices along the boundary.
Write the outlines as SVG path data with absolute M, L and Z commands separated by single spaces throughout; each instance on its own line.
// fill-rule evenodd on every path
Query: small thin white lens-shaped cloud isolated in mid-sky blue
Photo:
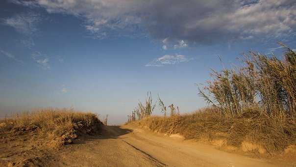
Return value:
M 165 55 L 150 61 L 145 66 L 164 66 L 178 64 L 181 62 L 188 62 L 190 60 L 193 60 L 193 58 L 188 58 L 184 55 Z

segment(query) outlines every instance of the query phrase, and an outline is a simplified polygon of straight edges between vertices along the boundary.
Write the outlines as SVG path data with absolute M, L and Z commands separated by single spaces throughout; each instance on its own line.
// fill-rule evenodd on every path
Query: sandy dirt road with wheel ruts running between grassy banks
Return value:
M 163 137 L 129 126 L 108 126 L 100 137 L 67 146 L 53 166 L 77 167 L 277 167 L 211 145 Z

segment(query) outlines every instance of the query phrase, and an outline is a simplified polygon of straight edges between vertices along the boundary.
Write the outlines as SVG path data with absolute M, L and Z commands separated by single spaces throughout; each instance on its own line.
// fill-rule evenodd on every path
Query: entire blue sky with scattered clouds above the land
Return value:
M 73 108 L 120 124 L 147 91 L 192 112 L 211 68 L 295 39 L 295 0 L 1 0 L 0 117 Z

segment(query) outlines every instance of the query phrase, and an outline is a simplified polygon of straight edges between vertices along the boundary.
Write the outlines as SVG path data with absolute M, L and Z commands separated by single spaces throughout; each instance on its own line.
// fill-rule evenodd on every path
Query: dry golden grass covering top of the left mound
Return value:
M 50 145 L 71 143 L 79 134 L 98 132 L 101 122 L 96 114 L 67 109 L 26 112 L 0 120 L 0 131 L 34 131 Z

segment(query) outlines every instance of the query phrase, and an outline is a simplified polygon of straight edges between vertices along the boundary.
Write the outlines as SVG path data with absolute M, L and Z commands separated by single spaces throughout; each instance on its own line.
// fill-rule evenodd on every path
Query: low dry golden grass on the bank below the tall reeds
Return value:
M 223 139 L 228 145 L 237 147 L 243 141 L 249 141 L 263 146 L 270 155 L 282 153 L 289 145 L 296 144 L 296 121 L 293 119 L 280 125 L 264 115 L 226 119 L 215 108 L 172 117 L 150 116 L 135 124 L 163 134 L 179 133 L 186 139 Z

